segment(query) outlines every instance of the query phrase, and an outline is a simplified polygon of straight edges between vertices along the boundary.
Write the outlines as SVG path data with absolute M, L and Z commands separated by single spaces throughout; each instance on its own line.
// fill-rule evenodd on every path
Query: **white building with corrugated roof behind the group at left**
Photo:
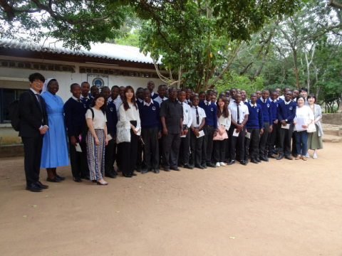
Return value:
M 113 85 L 133 88 L 146 87 L 147 82 L 157 86 L 163 82 L 157 77 L 150 54 L 139 48 L 110 43 L 97 43 L 91 50 L 70 50 L 61 41 L 52 38 L 41 43 L 27 43 L 0 39 L 0 143 L 19 144 L 18 132 L 9 124 L 8 105 L 28 90 L 28 75 L 41 73 L 46 79 L 58 80 L 64 102 L 71 97 L 70 85 L 87 81 L 98 87 Z M 159 63 L 158 63 L 159 64 Z M 166 75 L 165 73 L 163 75 Z M 100 79 L 99 79 L 100 78 Z M 0 144 L 0 145 L 1 145 Z

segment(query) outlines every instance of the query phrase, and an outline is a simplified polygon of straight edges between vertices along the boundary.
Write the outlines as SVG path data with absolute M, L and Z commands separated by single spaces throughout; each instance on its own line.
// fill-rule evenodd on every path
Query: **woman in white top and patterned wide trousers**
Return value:
M 96 95 L 91 105 L 94 107 L 86 112 L 86 122 L 89 128 L 86 143 L 90 181 L 98 185 L 108 185 L 108 182 L 103 180 L 105 146 L 108 144 L 105 97 L 100 94 Z

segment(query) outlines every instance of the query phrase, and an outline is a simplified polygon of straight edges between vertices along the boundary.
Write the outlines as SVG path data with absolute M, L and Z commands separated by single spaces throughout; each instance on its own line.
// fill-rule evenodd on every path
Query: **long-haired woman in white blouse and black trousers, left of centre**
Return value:
M 123 102 L 119 107 L 120 121 L 125 123 L 125 127 L 130 129 L 130 142 L 122 142 L 121 155 L 123 156 L 122 166 L 123 176 L 132 178 L 134 174 L 135 163 L 138 156 L 138 138 L 141 132 L 140 116 L 138 105 L 135 102 L 133 87 L 125 87 Z

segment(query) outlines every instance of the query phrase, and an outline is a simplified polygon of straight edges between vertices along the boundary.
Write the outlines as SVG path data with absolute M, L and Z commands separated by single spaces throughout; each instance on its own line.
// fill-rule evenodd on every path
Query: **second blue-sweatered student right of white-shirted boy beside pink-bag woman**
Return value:
M 262 161 L 269 161 L 267 158 L 267 137 L 269 132 L 272 132 L 272 110 L 271 110 L 271 100 L 269 100 L 269 90 L 264 89 L 262 91 L 261 98 L 257 100 L 257 103 L 262 108 L 262 115 L 264 117 L 264 133 L 261 134 L 259 141 L 259 159 Z

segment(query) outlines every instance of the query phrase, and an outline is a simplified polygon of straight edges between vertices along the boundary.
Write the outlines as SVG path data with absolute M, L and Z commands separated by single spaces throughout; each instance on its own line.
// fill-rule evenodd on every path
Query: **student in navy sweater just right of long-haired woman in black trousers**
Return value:
M 151 99 L 149 89 L 143 93 L 144 101 L 138 105 L 141 122 L 141 136 L 144 143 L 144 169 L 141 174 L 154 169 L 159 174 L 159 143 L 162 137 L 162 124 L 160 122 L 159 103 Z

